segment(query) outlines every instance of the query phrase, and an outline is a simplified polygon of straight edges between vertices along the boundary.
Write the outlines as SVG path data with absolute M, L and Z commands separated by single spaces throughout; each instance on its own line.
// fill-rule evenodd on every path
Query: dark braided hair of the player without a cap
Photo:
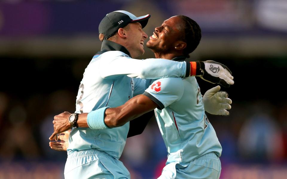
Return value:
M 186 42 L 187 47 L 183 50 L 183 54 L 189 58 L 189 54 L 192 53 L 199 44 L 201 39 L 201 29 L 196 21 L 187 16 L 179 16 L 184 21 L 184 33 L 182 34 L 182 40 Z

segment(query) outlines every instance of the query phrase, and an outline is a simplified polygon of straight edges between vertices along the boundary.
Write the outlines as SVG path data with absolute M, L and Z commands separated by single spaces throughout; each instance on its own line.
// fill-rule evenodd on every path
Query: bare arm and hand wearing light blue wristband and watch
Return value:
M 116 108 L 100 108 L 90 113 L 79 114 L 77 125 L 79 127 L 93 128 L 93 122 L 100 121 L 101 125 L 105 125 L 107 128 L 119 127 L 123 126 L 128 121 L 140 117 L 146 112 L 152 111 L 156 107 L 158 107 L 158 105 L 146 95 L 137 95 L 125 104 Z M 92 114 L 94 112 L 97 114 Z M 91 122 L 89 122 L 88 114 L 93 116 L 93 118 L 90 118 Z M 63 112 L 54 117 L 54 133 L 50 136 L 50 140 L 53 140 L 58 133 L 71 129 L 71 125 L 68 121 L 70 115 L 71 113 L 69 112 Z M 102 120 L 103 118 L 104 120 Z

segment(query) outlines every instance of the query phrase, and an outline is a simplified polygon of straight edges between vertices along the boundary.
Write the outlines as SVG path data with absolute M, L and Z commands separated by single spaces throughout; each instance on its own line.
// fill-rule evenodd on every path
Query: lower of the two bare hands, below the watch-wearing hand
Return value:
M 53 150 L 57 151 L 67 151 L 69 146 L 69 135 L 71 130 L 65 131 L 63 133 L 58 134 L 59 141 L 49 142 L 49 146 Z

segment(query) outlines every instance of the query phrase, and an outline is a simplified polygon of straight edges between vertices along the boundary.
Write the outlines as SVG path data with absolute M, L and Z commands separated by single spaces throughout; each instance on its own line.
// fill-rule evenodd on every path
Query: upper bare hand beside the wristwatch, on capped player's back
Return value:
M 69 117 L 70 117 L 71 113 L 70 112 L 62 112 L 59 115 L 56 115 L 54 117 L 54 132 L 53 134 L 50 136 L 50 141 L 52 141 L 54 139 L 54 137 L 56 136 L 56 134 L 61 133 L 61 132 L 65 132 L 69 129 L 72 128 L 71 124 L 69 123 Z M 57 137 L 55 138 L 57 141 Z

